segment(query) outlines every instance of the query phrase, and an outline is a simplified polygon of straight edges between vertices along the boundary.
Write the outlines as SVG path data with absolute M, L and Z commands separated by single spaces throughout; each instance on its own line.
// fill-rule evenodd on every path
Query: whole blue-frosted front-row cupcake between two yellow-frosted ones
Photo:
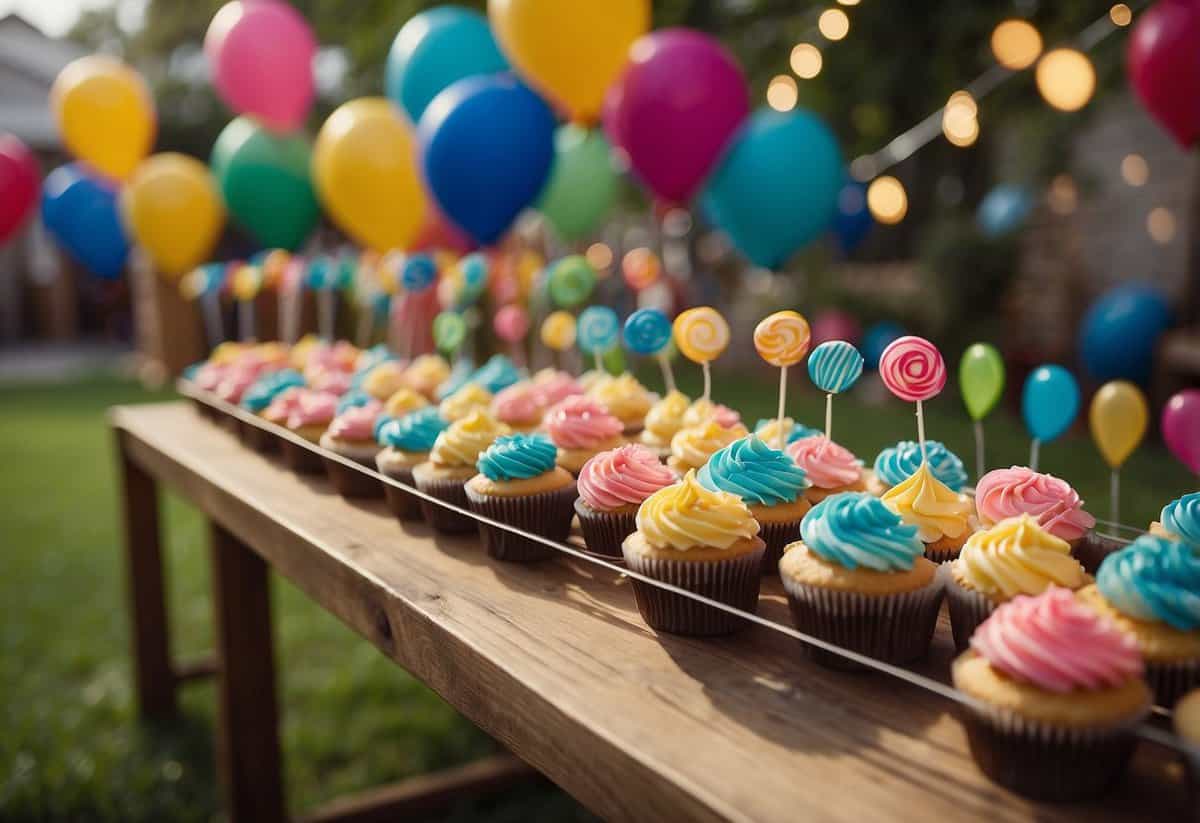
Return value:
M 910 525 L 877 497 L 824 498 L 784 549 L 779 576 L 800 631 L 889 663 L 924 657 L 934 637 L 942 584 Z M 858 668 L 834 653 L 805 650 L 833 668 Z

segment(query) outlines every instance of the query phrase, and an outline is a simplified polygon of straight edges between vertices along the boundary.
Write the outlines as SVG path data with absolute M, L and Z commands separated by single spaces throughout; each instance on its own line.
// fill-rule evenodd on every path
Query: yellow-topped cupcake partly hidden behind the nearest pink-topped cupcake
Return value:
M 976 626 L 1001 603 L 1022 594 L 1042 594 L 1051 585 L 1078 589 L 1088 582 L 1067 541 L 1030 515 L 976 531 L 942 575 L 954 645 L 960 651 Z

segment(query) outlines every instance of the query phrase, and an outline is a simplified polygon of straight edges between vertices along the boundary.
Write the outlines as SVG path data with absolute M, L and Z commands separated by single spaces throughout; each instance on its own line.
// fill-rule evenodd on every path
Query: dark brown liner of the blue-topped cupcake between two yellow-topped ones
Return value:
M 942 605 L 942 582 L 936 575 L 925 587 L 887 595 L 838 591 L 798 583 L 787 576 L 784 589 L 797 629 L 889 663 L 907 663 L 925 656 Z M 805 644 L 804 649 L 822 666 L 863 668 L 814 645 Z

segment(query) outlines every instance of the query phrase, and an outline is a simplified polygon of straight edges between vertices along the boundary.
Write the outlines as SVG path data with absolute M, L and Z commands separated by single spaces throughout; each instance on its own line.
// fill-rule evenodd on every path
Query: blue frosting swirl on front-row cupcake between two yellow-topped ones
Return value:
M 907 571 L 925 553 L 917 527 L 865 492 L 833 494 L 812 506 L 800 537 L 815 554 L 846 569 Z

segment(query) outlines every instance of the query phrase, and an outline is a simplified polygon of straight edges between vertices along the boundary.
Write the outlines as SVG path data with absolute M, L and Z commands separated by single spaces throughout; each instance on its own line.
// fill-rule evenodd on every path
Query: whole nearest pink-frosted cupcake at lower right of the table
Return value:
M 1060 801 L 1094 798 L 1124 771 L 1150 709 L 1141 673 L 1129 637 L 1058 588 L 997 608 L 952 667 L 983 773 Z

